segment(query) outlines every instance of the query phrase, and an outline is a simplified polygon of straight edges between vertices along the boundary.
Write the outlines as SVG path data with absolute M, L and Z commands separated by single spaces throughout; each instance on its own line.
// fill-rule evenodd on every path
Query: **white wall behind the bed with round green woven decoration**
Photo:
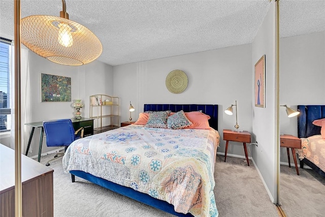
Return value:
M 218 104 L 218 151 L 224 152 L 222 130 L 234 129 L 236 118 L 223 111 L 235 100 L 240 129 L 252 130 L 251 62 L 251 45 L 241 45 L 114 66 L 114 95 L 121 99 L 121 121 L 129 118 L 130 100 L 136 109 L 132 113 L 134 120 L 146 103 Z M 188 86 L 181 94 L 172 94 L 165 84 L 168 73 L 176 69 L 188 77 Z M 243 145 L 235 142 L 231 142 L 228 153 L 245 155 Z

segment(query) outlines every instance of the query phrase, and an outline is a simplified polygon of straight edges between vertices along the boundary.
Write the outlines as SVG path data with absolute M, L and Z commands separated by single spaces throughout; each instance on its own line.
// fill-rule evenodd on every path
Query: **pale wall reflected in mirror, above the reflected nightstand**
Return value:
M 325 32 L 280 39 L 280 104 L 325 104 Z M 297 117 L 280 109 L 280 133 L 297 136 Z M 280 161 L 288 162 L 286 148 L 280 151 Z

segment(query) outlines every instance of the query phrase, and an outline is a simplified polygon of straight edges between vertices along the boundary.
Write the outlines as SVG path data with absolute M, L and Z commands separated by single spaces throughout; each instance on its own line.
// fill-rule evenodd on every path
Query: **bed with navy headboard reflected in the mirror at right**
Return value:
M 299 105 L 298 111 L 298 137 L 302 140 L 302 149 L 296 149 L 296 153 L 300 168 L 306 164 L 325 178 L 325 139 L 320 133 L 321 127 L 313 124 L 325 118 L 325 105 Z

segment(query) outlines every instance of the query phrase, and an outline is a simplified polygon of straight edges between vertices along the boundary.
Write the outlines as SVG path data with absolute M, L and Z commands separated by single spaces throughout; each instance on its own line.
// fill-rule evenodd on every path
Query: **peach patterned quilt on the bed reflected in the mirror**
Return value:
M 325 139 L 321 135 L 301 138 L 302 149 L 296 149 L 299 159 L 308 159 L 319 169 L 325 171 Z

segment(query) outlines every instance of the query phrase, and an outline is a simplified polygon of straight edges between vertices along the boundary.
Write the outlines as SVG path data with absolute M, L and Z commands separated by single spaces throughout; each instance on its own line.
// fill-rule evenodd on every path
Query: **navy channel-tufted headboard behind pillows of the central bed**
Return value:
M 218 130 L 218 105 L 197 105 L 197 104 L 144 104 L 143 111 L 167 111 L 184 112 L 200 111 L 209 115 L 209 125 L 211 128 Z

